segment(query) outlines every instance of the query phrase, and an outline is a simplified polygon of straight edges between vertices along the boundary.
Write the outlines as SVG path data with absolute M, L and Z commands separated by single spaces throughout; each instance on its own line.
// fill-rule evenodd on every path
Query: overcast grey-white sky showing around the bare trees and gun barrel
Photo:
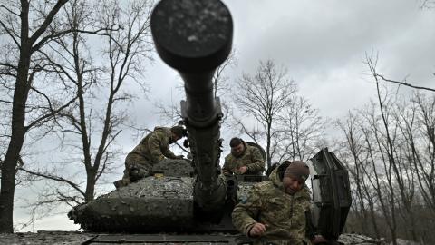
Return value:
M 375 94 L 367 53 L 379 52 L 378 71 L 395 80 L 435 88 L 435 10 L 421 9 L 419 0 L 226 0 L 234 22 L 233 46 L 237 67 L 227 75 L 231 83 L 241 73 L 253 73 L 260 60 L 272 59 L 288 68 L 288 75 L 324 117 L 338 119 L 368 103 Z M 131 104 L 135 120 L 153 128 L 160 124 L 153 104 L 179 103 L 178 74 L 154 55 L 144 77 L 150 93 Z M 390 85 L 393 87 L 392 85 Z M 411 90 L 401 88 L 402 93 Z M 169 102 L 170 101 L 170 102 Z M 224 134 L 226 137 L 228 135 Z M 131 135 L 120 140 L 127 153 L 135 145 Z M 123 159 L 124 156 L 121 156 Z M 121 177 L 122 170 L 118 171 Z M 112 181 L 115 181 L 113 179 Z M 31 187 L 18 187 L 18 198 Z M 35 189 L 36 190 L 36 189 Z M 36 221 L 22 231 L 77 230 L 66 212 Z M 15 222 L 26 220 L 15 208 Z

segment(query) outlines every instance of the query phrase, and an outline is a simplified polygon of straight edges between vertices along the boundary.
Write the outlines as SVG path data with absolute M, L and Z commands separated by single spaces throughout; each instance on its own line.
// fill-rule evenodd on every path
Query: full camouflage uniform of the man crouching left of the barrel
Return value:
M 131 169 L 134 167 L 145 172 L 152 170 L 152 165 L 165 157 L 176 159 L 177 156 L 169 150 L 170 128 L 156 127 L 150 132 L 125 158 L 125 170 L 122 177 L 124 185 L 131 182 Z

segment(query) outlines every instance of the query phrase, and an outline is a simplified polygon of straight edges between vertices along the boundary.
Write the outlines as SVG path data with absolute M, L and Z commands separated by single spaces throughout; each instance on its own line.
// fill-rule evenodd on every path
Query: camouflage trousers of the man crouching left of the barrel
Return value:
M 125 170 L 122 177 L 122 185 L 128 185 L 131 182 L 150 175 L 152 171 L 152 162 L 143 156 L 135 153 L 129 153 L 125 158 Z

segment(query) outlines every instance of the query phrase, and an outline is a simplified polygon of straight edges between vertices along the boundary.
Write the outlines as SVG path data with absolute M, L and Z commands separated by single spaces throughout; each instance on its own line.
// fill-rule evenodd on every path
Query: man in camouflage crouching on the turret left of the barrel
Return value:
M 125 158 L 125 170 L 121 185 L 125 186 L 149 176 L 152 166 L 165 157 L 182 159 L 183 155 L 176 156 L 169 150 L 169 144 L 177 142 L 185 135 L 185 129 L 181 126 L 156 127 Z

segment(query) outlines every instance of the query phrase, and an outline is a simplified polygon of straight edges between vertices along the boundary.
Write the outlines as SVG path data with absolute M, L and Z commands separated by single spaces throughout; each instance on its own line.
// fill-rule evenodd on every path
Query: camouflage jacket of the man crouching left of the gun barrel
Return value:
M 129 153 L 129 155 L 139 155 L 146 160 L 156 163 L 165 157 L 176 158 L 175 154 L 169 150 L 169 139 L 171 132 L 169 128 L 156 127 Z

